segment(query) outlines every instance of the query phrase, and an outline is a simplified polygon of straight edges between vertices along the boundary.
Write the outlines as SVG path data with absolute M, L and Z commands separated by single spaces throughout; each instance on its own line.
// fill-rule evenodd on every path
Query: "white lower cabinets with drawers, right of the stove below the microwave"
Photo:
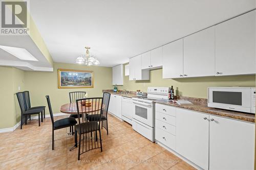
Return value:
M 202 169 L 254 168 L 255 124 L 158 103 L 155 120 L 157 142 Z

